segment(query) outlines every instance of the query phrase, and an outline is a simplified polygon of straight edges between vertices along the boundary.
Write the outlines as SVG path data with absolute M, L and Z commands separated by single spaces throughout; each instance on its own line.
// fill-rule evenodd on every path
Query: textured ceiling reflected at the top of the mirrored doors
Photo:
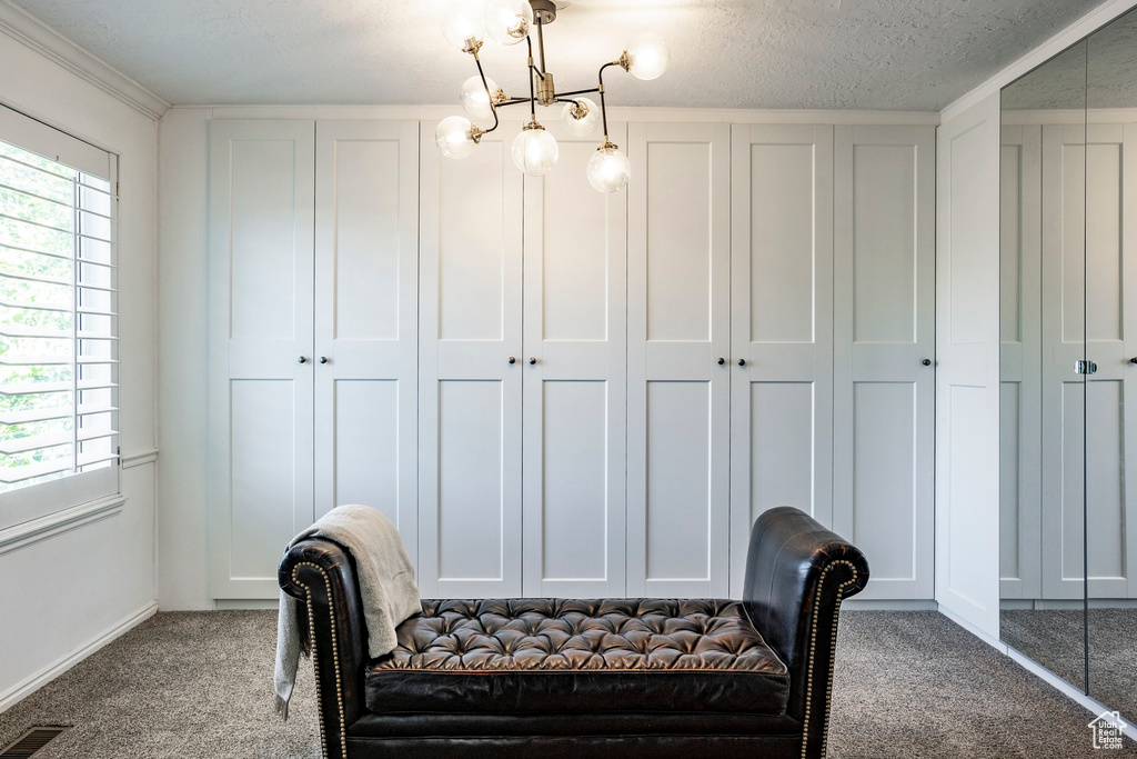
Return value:
M 1005 110 L 1087 105 L 1137 108 L 1137 11 L 1098 30 L 1003 90 Z

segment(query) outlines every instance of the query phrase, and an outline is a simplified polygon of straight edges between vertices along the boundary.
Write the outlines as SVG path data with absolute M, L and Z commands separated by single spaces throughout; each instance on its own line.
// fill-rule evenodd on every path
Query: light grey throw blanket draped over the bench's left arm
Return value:
M 402 620 L 422 611 L 415 569 L 395 525 L 371 506 L 337 506 L 292 538 L 289 548 L 313 536 L 339 543 L 355 558 L 371 658 L 393 651 L 395 628 Z M 299 604 L 299 600 L 281 591 L 274 680 L 276 712 L 285 720 L 288 702 L 296 685 L 296 670 L 300 663 Z

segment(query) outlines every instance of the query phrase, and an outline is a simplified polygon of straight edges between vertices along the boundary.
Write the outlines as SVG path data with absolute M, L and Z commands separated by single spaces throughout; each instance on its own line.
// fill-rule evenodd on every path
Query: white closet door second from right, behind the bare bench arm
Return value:
M 833 129 L 733 127 L 731 594 L 754 520 L 832 519 Z M 739 365 L 739 360 L 745 365 Z

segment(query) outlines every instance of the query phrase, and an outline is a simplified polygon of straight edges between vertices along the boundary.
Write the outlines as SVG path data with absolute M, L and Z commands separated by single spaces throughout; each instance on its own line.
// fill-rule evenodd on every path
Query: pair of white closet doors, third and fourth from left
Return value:
M 516 127 L 422 152 L 424 595 L 624 592 L 625 196 L 588 184 L 594 140 L 549 129 L 543 178 L 514 168 Z

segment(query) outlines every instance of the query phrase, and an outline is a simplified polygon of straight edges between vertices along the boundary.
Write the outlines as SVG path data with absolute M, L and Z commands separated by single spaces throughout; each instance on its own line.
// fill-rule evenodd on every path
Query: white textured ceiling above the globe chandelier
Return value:
M 439 32 L 443 0 L 10 1 L 177 105 L 456 102 L 473 73 Z M 938 110 L 1099 3 L 574 0 L 546 50 L 558 89 L 580 89 L 633 33 L 663 34 L 670 69 L 617 71 L 619 105 Z M 524 56 L 482 51 L 509 94 Z

